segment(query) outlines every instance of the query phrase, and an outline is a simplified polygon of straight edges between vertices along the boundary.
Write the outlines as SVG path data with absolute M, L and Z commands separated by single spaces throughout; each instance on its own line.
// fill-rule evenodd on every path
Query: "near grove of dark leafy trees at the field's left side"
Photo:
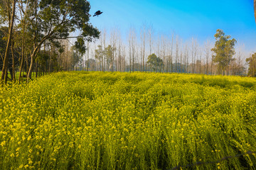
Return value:
M 0 1 L 1 81 L 18 81 L 36 72 L 59 71 L 78 60 L 87 49 L 85 42 L 98 38 L 100 31 L 89 23 L 90 3 L 86 0 L 1 0 Z M 79 35 L 71 36 L 71 33 Z M 63 40 L 75 39 L 66 48 Z M 71 59 L 58 60 L 70 53 Z M 65 57 L 64 57 L 65 58 Z M 25 72 L 25 75 L 21 75 Z

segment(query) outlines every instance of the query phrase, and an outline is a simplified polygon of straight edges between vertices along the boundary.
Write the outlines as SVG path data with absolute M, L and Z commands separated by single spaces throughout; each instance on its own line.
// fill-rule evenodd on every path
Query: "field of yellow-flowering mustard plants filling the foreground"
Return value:
M 253 78 L 59 72 L 0 87 L 0 169 L 256 169 L 254 152 Z

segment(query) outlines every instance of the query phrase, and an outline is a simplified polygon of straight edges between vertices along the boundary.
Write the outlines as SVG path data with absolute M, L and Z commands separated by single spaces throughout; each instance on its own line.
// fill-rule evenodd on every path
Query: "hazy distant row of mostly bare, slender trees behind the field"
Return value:
M 175 33 L 157 35 L 152 26 L 130 28 L 127 38 L 114 28 L 101 30 L 100 39 L 90 43 L 90 52 L 81 57 L 78 70 L 103 72 L 177 72 L 253 76 L 254 62 L 235 38 L 218 29 L 215 43 L 199 45 L 191 38 L 186 42 Z M 252 53 L 253 56 L 253 53 Z M 249 58 L 248 58 L 249 57 Z M 247 68 L 249 64 L 249 69 Z M 252 71 L 253 72 L 253 71 Z

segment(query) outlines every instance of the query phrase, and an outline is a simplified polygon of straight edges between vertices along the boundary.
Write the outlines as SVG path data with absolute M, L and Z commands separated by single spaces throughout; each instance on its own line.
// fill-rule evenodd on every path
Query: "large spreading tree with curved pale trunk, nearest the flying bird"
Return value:
M 80 54 L 86 50 L 85 40 L 98 38 L 100 32 L 89 23 L 90 3 L 86 0 L 31 0 L 34 17 L 29 21 L 33 32 L 34 45 L 31 50 L 31 63 L 27 80 L 31 79 L 33 62 L 46 40 L 58 45 L 58 40 L 76 38 L 75 47 Z M 80 35 L 70 37 L 70 33 L 80 32 Z

